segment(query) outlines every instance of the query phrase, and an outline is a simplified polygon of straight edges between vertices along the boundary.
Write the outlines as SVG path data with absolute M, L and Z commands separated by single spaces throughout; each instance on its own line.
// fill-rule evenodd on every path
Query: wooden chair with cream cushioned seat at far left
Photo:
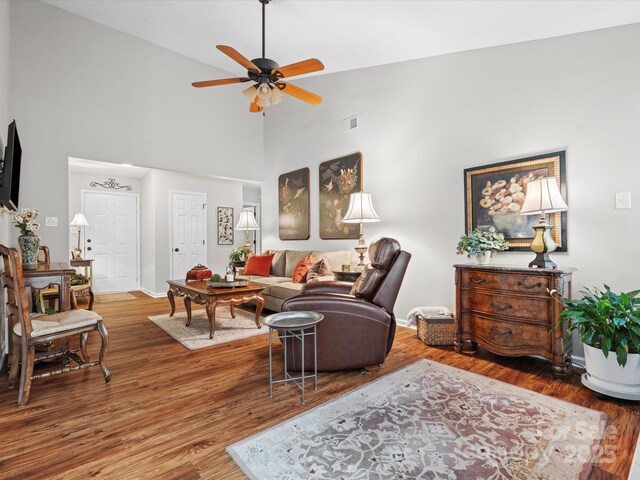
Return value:
M 109 334 L 102 317 L 89 310 L 70 310 L 37 319 L 29 317 L 26 288 L 22 277 L 22 262 L 15 248 L 0 245 L 0 256 L 4 262 L 2 283 L 7 288 L 7 313 L 9 330 L 12 339 L 11 368 L 9 371 L 9 388 L 15 388 L 20 370 L 20 391 L 18 405 L 24 406 L 29 400 L 31 381 L 41 377 L 49 377 L 59 373 L 81 370 L 87 367 L 100 366 L 106 383 L 111 374 L 106 364 L 106 353 L 109 346 Z M 87 338 L 90 332 L 97 331 L 102 339 L 100 357 L 92 362 L 87 352 Z M 79 337 L 80 348 L 69 349 L 69 340 Z M 57 352 L 36 352 L 36 347 L 60 341 L 62 350 Z M 78 354 L 79 353 L 79 354 Z M 63 358 L 61 368 L 42 373 L 33 373 L 34 363 L 38 360 Z M 76 363 L 71 366 L 70 361 Z

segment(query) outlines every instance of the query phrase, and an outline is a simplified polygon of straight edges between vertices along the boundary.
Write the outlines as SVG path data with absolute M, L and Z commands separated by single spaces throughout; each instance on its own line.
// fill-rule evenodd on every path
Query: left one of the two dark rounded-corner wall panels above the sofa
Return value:
M 278 231 L 280 240 L 308 240 L 309 169 L 278 177 Z

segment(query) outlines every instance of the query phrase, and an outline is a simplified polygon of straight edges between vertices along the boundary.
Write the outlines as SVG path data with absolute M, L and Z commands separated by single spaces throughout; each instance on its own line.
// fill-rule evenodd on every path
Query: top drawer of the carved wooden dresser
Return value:
M 486 288 L 513 293 L 548 295 L 549 277 L 544 275 L 514 275 L 510 273 L 464 270 L 460 279 L 462 288 Z

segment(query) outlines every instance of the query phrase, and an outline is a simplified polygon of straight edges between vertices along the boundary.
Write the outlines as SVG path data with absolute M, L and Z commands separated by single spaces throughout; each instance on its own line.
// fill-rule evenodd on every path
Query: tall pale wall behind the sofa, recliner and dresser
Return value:
M 364 188 L 388 235 L 413 253 L 396 315 L 454 307 L 454 263 L 464 232 L 463 169 L 567 150 L 568 248 L 553 254 L 584 286 L 640 287 L 640 25 L 457 53 L 294 83 L 324 97 L 312 107 L 287 97 L 265 127 L 264 248 L 345 249 L 318 236 L 318 165 L 364 154 Z M 325 59 L 330 60 L 330 59 Z M 341 121 L 360 116 L 343 133 Z M 311 168 L 311 238 L 278 240 L 277 179 Z M 631 191 L 631 210 L 614 195 Z M 527 265 L 532 253 L 501 254 Z

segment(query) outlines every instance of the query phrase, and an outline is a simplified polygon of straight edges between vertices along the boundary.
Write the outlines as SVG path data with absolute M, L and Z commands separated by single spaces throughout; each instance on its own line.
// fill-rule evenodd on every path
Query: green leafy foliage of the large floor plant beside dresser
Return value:
M 615 352 L 624 367 L 629 353 L 640 353 L 640 290 L 618 295 L 605 285 L 604 291 L 587 288 L 580 293 L 579 300 L 561 299 L 567 333 L 577 330 L 582 343 L 601 349 L 606 358 Z

